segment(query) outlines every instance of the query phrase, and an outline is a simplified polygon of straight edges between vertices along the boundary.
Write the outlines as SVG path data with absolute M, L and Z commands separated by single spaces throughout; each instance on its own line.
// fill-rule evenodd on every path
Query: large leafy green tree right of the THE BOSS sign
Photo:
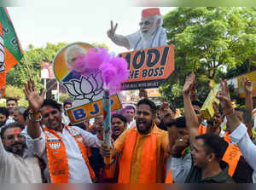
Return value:
M 186 76 L 195 72 L 199 99 L 207 97 L 210 80 L 222 68 L 256 66 L 256 8 L 178 8 L 164 16 L 168 43 L 175 45 L 175 71 L 161 93 L 182 106 Z

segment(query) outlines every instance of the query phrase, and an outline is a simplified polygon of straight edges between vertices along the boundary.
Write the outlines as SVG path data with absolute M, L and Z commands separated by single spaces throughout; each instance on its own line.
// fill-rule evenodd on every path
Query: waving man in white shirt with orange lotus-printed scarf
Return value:
M 27 146 L 47 163 L 50 182 L 91 183 L 95 174 L 90 168 L 86 147 L 101 147 L 102 134 L 92 135 L 79 127 L 62 124 L 58 103 L 44 100 L 45 92 L 38 95 L 33 81 L 25 84 L 24 93 L 31 108 Z

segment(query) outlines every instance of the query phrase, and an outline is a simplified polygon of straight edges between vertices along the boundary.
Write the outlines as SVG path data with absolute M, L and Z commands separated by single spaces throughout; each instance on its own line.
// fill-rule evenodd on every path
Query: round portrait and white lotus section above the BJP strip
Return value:
M 73 97 L 74 107 L 102 99 L 103 82 L 99 69 L 84 64 L 81 69 L 82 65 L 78 64 L 90 48 L 94 47 L 88 43 L 71 43 L 62 48 L 53 60 L 55 78 Z

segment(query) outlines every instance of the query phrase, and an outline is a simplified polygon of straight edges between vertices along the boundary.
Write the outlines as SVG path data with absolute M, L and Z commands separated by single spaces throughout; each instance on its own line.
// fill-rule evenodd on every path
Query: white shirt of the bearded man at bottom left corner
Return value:
M 0 140 L 0 183 L 42 183 L 38 158 L 27 149 L 23 157 L 9 153 Z

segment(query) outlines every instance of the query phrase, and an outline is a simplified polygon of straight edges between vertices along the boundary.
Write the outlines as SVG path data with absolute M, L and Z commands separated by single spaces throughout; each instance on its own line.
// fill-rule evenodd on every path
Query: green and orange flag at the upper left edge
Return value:
M 0 89 L 5 87 L 5 74 L 23 57 L 19 39 L 6 8 L 0 7 Z

